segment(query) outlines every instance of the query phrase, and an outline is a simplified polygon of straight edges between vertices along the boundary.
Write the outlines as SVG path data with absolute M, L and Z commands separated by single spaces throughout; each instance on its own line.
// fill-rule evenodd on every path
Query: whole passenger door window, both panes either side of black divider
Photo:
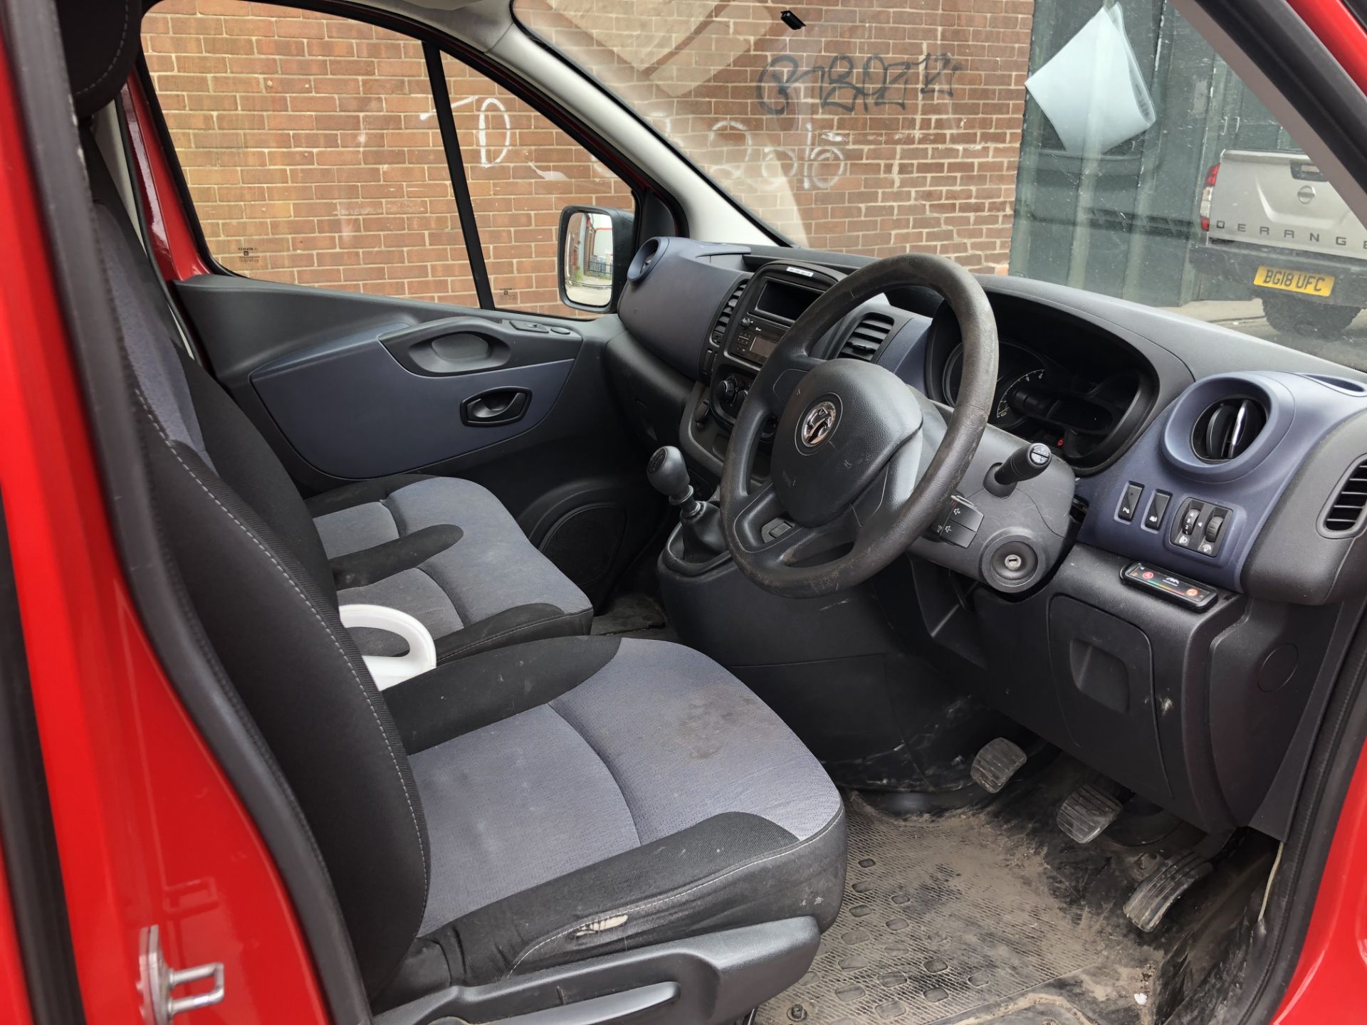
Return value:
M 420 42 L 275 4 L 163 0 L 142 44 L 219 264 L 478 305 Z M 560 208 L 632 209 L 630 189 L 507 90 L 443 64 L 495 305 L 573 313 L 556 292 Z

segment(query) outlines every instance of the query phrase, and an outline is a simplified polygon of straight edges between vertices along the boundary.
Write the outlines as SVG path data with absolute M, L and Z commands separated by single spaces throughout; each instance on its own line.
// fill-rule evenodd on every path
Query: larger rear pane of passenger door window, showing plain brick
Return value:
M 288 7 L 168 0 L 144 52 L 223 266 L 478 303 L 420 44 Z

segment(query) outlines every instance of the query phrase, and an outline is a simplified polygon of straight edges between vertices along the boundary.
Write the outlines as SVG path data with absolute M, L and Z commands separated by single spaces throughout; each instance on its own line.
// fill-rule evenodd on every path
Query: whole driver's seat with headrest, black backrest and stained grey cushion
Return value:
M 64 4 L 79 118 L 115 100 L 139 15 Z M 186 614 L 298 801 L 375 1009 L 722 1022 L 794 983 L 845 877 L 843 806 L 801 741 L 707 656 L 638 640 L 498 648 L 381 697 L 332 581 L 202 450 L 130 226 L 92 210 Z

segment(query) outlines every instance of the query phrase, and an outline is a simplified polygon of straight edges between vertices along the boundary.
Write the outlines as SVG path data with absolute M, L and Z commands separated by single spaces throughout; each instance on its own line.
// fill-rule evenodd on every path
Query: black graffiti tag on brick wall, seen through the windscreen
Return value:
M 961 70 L 950 53 L 893 62 L 874 53 L 860 63 L 849 53 L 837 53 L 807 68 L 793 55 L 781 53 L 760 70 L 755 101 L 774 115 L 787 113 L 802 98 L 822 113 L 869 113 L 879 107 L 905 111 L 908 94 L 953 98 L 954 72 Z

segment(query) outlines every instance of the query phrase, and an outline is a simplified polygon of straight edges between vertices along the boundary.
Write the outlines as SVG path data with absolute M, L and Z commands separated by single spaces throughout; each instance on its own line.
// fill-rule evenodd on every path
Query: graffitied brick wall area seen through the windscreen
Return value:
M 517 0 L 791 238 L 1005 271 L 1033 0 Z

